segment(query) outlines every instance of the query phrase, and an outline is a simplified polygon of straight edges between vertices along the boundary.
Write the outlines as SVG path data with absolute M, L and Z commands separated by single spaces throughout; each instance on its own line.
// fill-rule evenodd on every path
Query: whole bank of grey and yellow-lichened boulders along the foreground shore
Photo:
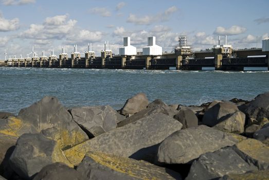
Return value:
M 0 179 L 269 179 L 269 92 L 201 106 L 68 109 L 46 96 L 0 113 Z

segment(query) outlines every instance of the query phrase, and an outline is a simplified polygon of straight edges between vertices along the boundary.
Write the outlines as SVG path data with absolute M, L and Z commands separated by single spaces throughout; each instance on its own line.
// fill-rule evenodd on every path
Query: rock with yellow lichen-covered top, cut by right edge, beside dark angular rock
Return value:
M 235 151 L 259 170 L 269 169 L 269 147 L 256 139 L 246 139 L 235 145 Z

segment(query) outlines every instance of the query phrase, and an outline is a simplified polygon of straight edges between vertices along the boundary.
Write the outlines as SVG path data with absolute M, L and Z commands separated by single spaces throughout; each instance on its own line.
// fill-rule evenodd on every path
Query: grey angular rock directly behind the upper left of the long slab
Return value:
M 111 131 L 117 127 L 117 123 L 123 118 L 118 119 L 116 112 L 110 105 L 77 107 L 69 110 L 73 119 L 93 137 L 104 132 Z

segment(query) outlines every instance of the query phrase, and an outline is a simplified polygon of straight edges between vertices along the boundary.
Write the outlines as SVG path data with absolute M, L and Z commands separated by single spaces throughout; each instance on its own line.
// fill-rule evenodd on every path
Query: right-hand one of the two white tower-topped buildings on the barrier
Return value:
M 143 55 L 160 56 L 163 54 L 163 48 L 156 45 L 156 37 L 148 38 L 148 46 L 143 47 Z

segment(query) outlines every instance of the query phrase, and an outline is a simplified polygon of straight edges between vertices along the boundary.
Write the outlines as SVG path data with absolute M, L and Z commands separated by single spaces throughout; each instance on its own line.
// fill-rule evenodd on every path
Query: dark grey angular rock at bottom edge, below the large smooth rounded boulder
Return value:
M 257 167 L 244 161 L 232 147 L 225 147 L 202 154 L 191 165 L 186 180 L 215 179 L 225 174 L 241 174 L 250 170 L 257 170 Z

